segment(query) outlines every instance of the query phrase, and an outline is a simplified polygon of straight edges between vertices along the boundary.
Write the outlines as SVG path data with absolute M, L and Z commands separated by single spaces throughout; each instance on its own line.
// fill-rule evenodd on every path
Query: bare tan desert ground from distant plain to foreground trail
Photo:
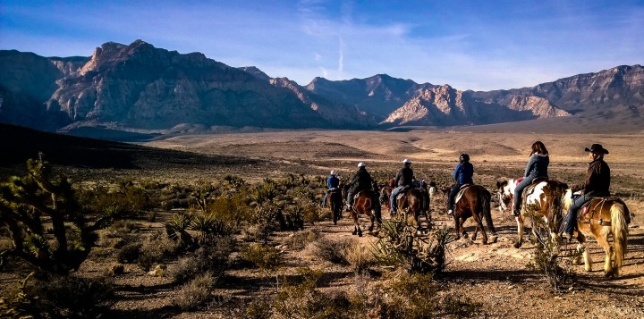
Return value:
M 449 186 L 450 174 L 458 156 L 468 153 L 475 166 L 475 182 L 493 193 L 493 219 L 498 231 L 491 243 L 462 238 L 449 244 L 445 275 L 436 281 L 450 296 L 463 296 L 479 303 L 471 317 L 521 317 L 521 318 L 641 318 L 644 317 L 644 134 L 641 132 L 619 134 L 581 134 L 546 132 L 517 133 L 470 128 L 436 129 L 413 128 L 392 131 L 361 130 L 273 130 L 261 132 L 232 132 L 160 137 L 140 143 L 145 147 L 158 147 L 191 152 L 196 155 L 231 156 L 234 162 L 210 164 L 164 164 L 157 158 L 157 165 L 147 163 L 136 169 L 67 167 L 77 180 L 92 182 L 114 181 L 129 177 L 135 180 L 221 180 L 226 175 L 241 176 L 259 182 L 265 178 L 279 178 L 285 173 L 304 174 L 325 178 L 330 170 L 337 170 L 343 179 L 350 179 L 356 164 L 364 162 L 367 169 L 381 183 L 393 177 L 402 166 L 402 159 L 413 162 L 417 178 L 434 180 L 438 189 Z M 613 176 L 612 191 L 622 197 L 631 211 L 628 255 L 620 277 L 604 278 L 602 268 L 604 253 L 594 239 L 589 249 L 594 259 L 593 271 L 585 272 L 583 266 L 567 265 L 576 275 L 574 284 L 567 290 L 554 290 L 545 276 L 528 264 L 534 245 L 524 244 L 513 248 L 516 222 L 512 216 L 499 212 L 494 196 L 496 180 L 521 176 L 530 153 L 530 145 L 541 140 L 550 157 L 550 179 L 568 183 L 581 182 L 588 167 L 584 147 L 600 143 L 610 151 L 606 162 Z M 319 189 L 321 197 L 324 189 Z M 322 208 L 319 208 L 322 210 Z M 443 196 L 432 198 L 433 227 L 447 227 L 453 231 L 453 220 L 445 214 Z M 160 211 L 168 216 L 176 211 Z M 383 210 L 385 219 L 389 215 Z M 368 219 L 360 218 L 366 228 Z M 160 222 L 145 223 L 149 231 L 163 229 Z M 358 238 L 351 233 L 352 222 L 347 213 L 334 225 L 328 219 L 306 224 L 305 230 L 318 231 L 330 239 L 354 239 L 364 248 L 377 240 L 377 234 Z M 466 222 L 471 233 L 474 223 Z M 281 249 L 288 263 L 277 271 L 292 274 L 295 269 L 309 267 L 327 273 L 319 290 L 364 290 L 395 274 L 375 267 L 377 274 L 356 274 L 344 265 L 320 260 L 309 248 L 290 249 L 284 245 L 292 231 L 275 231 L 271 244 Z M 571 259 L 575 245 L 563 244 L 562 263 Z M 89 258 L 79 273 L 88 276 L 105 273 L 113 264 L 100 264 Z M 385 274 L 384 274 L 385 273 Z M 276 275 L 275 275 L 276 276 Z M 273 277 L 275 277 L 273 276 Z M 224 284 L 212 292 L 216 296 L 208 306 L 184 311 L 172 307 L 175 291 L 168 288 L 169 280 L 150 275 L 135 264 L 126 264 L 124 273 L 114 278 L 122 287 L 118 300 L 112 306 L 115 314 L 130 317 L 244 317 L 240 309 L 222 310 L 233 299 L 270 295 L 275 292 L 271 276 L 259 270 L 231 269 L 225 273 Z M 15 276 L 4 275 L 7 282 Z M 129 289 L 123 289 L 129 287 Z M 443 293 L 443 292 L 441 292 Z M 367 314 L 365 314 L 366 316 Z M 428 315 L 429 317 L 434 315 Z M 440 315 L 443 316 L 443 315 Z M 450 316 L 450 315 L 445 315 Z M 451 315 L 458 316 L 458 315 Z

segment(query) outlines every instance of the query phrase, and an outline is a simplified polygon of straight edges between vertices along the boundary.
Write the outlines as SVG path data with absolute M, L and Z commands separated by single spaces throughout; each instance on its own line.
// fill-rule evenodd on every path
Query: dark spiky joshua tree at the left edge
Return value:
M 28 174 L 0 183 L 0 223 L 7 226 L 13 248 L 0 252 L 18 256 L 40 270 L 68 273 L 78 269 L 94 244 L 72 184 L 52 178 L 41 154 L 27 161 Z

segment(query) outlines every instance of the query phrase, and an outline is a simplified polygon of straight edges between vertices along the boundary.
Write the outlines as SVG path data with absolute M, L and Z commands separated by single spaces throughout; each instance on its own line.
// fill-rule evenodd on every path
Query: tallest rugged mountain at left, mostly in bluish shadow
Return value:
M 193 53 L 143 41 L 106 43 L 80 71 L 59 81 L 48 109 L 72 121 L 119 122 L 137 128 L 179 123 L 307 127 L 325 124 L 283 89 L 249 72 Z

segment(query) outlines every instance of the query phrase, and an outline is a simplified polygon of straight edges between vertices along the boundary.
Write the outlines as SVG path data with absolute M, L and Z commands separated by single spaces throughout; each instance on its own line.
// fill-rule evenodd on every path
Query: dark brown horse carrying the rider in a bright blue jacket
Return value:
M 447 208 L 449 199 L 449 188 L 443 189 L 445 196 L 445 209 Z M 483 228 L 483 219 L 487 223 L 487 229 L 491 231 L 492 235 L 496 236 L 494 223 L 492 222 L 492 214 L 490 209 L 490 199 L 492 195 L 490 192 L 480 185 L 466 184 L 463 185 L 456 195 L 453 209 L 453 219 L 456 231 L 456 239 L 461 239 L 467 236 L 465 229 L 462 227 L 463 223 L 470 217 L 474 218 L 477 226 L 474 230 L 472 240 L 476 240 L 479 233 L 479 228 L 483 234 L 483 243 L 487 244 L 487 233 Z

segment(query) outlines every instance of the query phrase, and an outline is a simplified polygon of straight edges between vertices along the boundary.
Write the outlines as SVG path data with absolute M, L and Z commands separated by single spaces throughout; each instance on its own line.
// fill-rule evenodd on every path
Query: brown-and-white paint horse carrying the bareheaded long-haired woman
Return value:
M 519 181 L 510 179 L 497 181 L 499 196 L 499 210 L 501 212 L 512 212 L 514 203 L 514 189 Z M 557 239 L 557 231 L 563 216 L 563 196 L 568 185 L 556 180 L 537 180 L 523 190 L 523 203 L 521 214 L 516 216 L 518 238 L 514 242 L 514 248 L 520 248 L 523 244 L 524 221 L 526 215 L 531 217 L 542 217 L 546 222 L 547 231 L 551 240 Z M 530 206 L 530 214 L 527 209 Z M 537 226 L 533 219 L 532 234 L 539 238 Z

